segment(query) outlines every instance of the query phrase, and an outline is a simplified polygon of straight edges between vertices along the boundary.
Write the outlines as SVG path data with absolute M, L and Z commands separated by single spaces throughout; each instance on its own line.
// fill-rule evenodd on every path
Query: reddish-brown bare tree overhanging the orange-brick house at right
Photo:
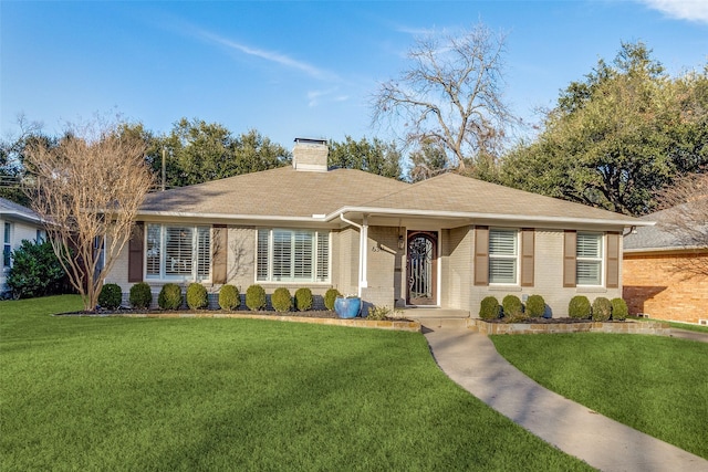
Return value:
M 665 211 L 657 225 L 687 250 L 708 251 L 708 174 L 688 174 L 659 196 Z M 708 255 L 677 260 L 687 275 L 708 275 Z

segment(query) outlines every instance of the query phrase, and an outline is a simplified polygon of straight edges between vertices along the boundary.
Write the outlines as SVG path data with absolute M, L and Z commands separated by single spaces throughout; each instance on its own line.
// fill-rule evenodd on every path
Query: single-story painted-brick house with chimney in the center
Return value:
M 336 287 L 385 306 L 477 316 L 487 295 L 622 295 L 622 234 L 643 220 L 446 174 L 406 183 L 327 169 L 323 140 L 293 165 L 150 193 L 106 282 Z

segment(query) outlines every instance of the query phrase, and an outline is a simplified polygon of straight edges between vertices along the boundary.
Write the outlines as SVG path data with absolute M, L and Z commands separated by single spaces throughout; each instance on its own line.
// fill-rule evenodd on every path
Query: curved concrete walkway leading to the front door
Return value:
M 708 472 L 708 461 L 541 387 L 465 328 L 424 329 L 442 371 L 485 403 L 602 471 Z

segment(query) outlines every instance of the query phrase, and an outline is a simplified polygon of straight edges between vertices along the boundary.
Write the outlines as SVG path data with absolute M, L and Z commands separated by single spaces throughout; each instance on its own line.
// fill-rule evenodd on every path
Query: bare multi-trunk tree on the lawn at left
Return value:
M 56 146 L 39 141 L 27 150 L 32 208 L 86 311 L 95 310 L 153 183 L 144 153 L 142 140 L 102 118 L 70 126 Z

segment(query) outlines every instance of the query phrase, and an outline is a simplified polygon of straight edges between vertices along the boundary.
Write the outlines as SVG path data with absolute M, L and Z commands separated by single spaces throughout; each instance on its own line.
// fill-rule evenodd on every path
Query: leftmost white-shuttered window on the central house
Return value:
M 147 279 L 204 281 L 210 277 L 209 227 L 147 224 Z

